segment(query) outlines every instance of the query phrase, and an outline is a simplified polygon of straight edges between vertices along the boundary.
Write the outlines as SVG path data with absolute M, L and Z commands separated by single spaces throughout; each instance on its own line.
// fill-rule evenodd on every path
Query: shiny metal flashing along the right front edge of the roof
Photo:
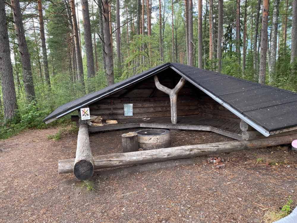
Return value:
M 245 117 L 243 114 L 241 114 L 240 112 L 238 112 L 237 110 L 233 109 L 232 106 L 230 106 L 228 103 L 225 103 L 224 101 L 222 101 L 221 99 L 219 99 L 217 96 L 215 96 L 214 94 L 212 94 L 211 92 L 209 92 L 208 90 L 206 90 L 205 88 L 201 87 L 199 84 L 195 83 L 194 81 L 192 81 L 190 78 L 188 78 L 186 75 L 184 75 L 181 71 L 179 71 L 178 69 L 176 69 L 173 65 L 170 66 L 171 69 L 173 69 L 174 71 L 176 71 L 178 74 L 180 74 L 181 76 L 183 76 L 184 78 L 186 78 L 187 81 L 189 81 L 191 84 L 193 84 L 194 86 L 198 87 L 200 90 L 202 90 L 204 93 L 206 93 L 208 96 L 210 96 L 212 99 L 214 99 L 215 101 L 217 101 L 218 103 L 220 103 L 222 106 L 224 106 L 226 109 L 228 109 L 230 112 L 232 112 L 233 114 L 235 114 L 237 117 L 239 117 L 241 120 L 245 121 L 246 123 L 248 123 L 250 126 L 252 126 L 253 128 L 255 128 L 257 131 L 259 131 L 261 134 L 263 134 L 264 136 L 270 136 L 269 131 L 267 131 L 266 129 L 262 128 L 260 125 L 257 125 L 255 122 L 253 122 L 252 120 L 249 120 L 247 117 Z

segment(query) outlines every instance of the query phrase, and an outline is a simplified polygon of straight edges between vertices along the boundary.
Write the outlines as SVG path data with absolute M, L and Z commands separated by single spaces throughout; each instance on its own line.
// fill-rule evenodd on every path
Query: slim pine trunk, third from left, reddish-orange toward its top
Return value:
M 37 4 L 38 4 L 39 29 L 40 29 L 41 48 L 42 48 L 44 77 L 45 77 L 45 82 L 50 87 L 50 73 L 48 71 L 48 54 L 47 54 L 46 45 L 45 45 L 44 22 L 43 22 L 41 0 L 37 0 Z

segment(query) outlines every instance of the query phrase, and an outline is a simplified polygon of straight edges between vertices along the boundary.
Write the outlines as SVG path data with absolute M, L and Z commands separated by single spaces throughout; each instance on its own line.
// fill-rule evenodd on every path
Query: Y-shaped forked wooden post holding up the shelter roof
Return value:
M 186 80 L 182 77 L 173 89 L 170 89 L 160 84 L 157 75 L 154 76 L 154 81 L 158 90 L 169 95 L 171 108 L 171 122 L 172 124 L 177 124 L 177 95 L 180 89 L 184 86 Z

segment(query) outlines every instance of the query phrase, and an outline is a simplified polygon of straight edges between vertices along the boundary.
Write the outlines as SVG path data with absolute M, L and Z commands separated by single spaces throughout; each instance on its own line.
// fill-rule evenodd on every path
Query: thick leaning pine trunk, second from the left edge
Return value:
M 20 9 L 20 2 L 19 0 L 11 0 L 10 3 L 12 8 L 13 21 L 15 25 L 15 34 L 17 36 L 18 48 L 20 52 L 20 60 L 22 62 L 23 67 L 23 82 L 26 97 L 29 101 L 33 101 L 35 100 L 35 90 L 33 84 L 30 54 L 28 51 L 22 20 L 22 12 Z

